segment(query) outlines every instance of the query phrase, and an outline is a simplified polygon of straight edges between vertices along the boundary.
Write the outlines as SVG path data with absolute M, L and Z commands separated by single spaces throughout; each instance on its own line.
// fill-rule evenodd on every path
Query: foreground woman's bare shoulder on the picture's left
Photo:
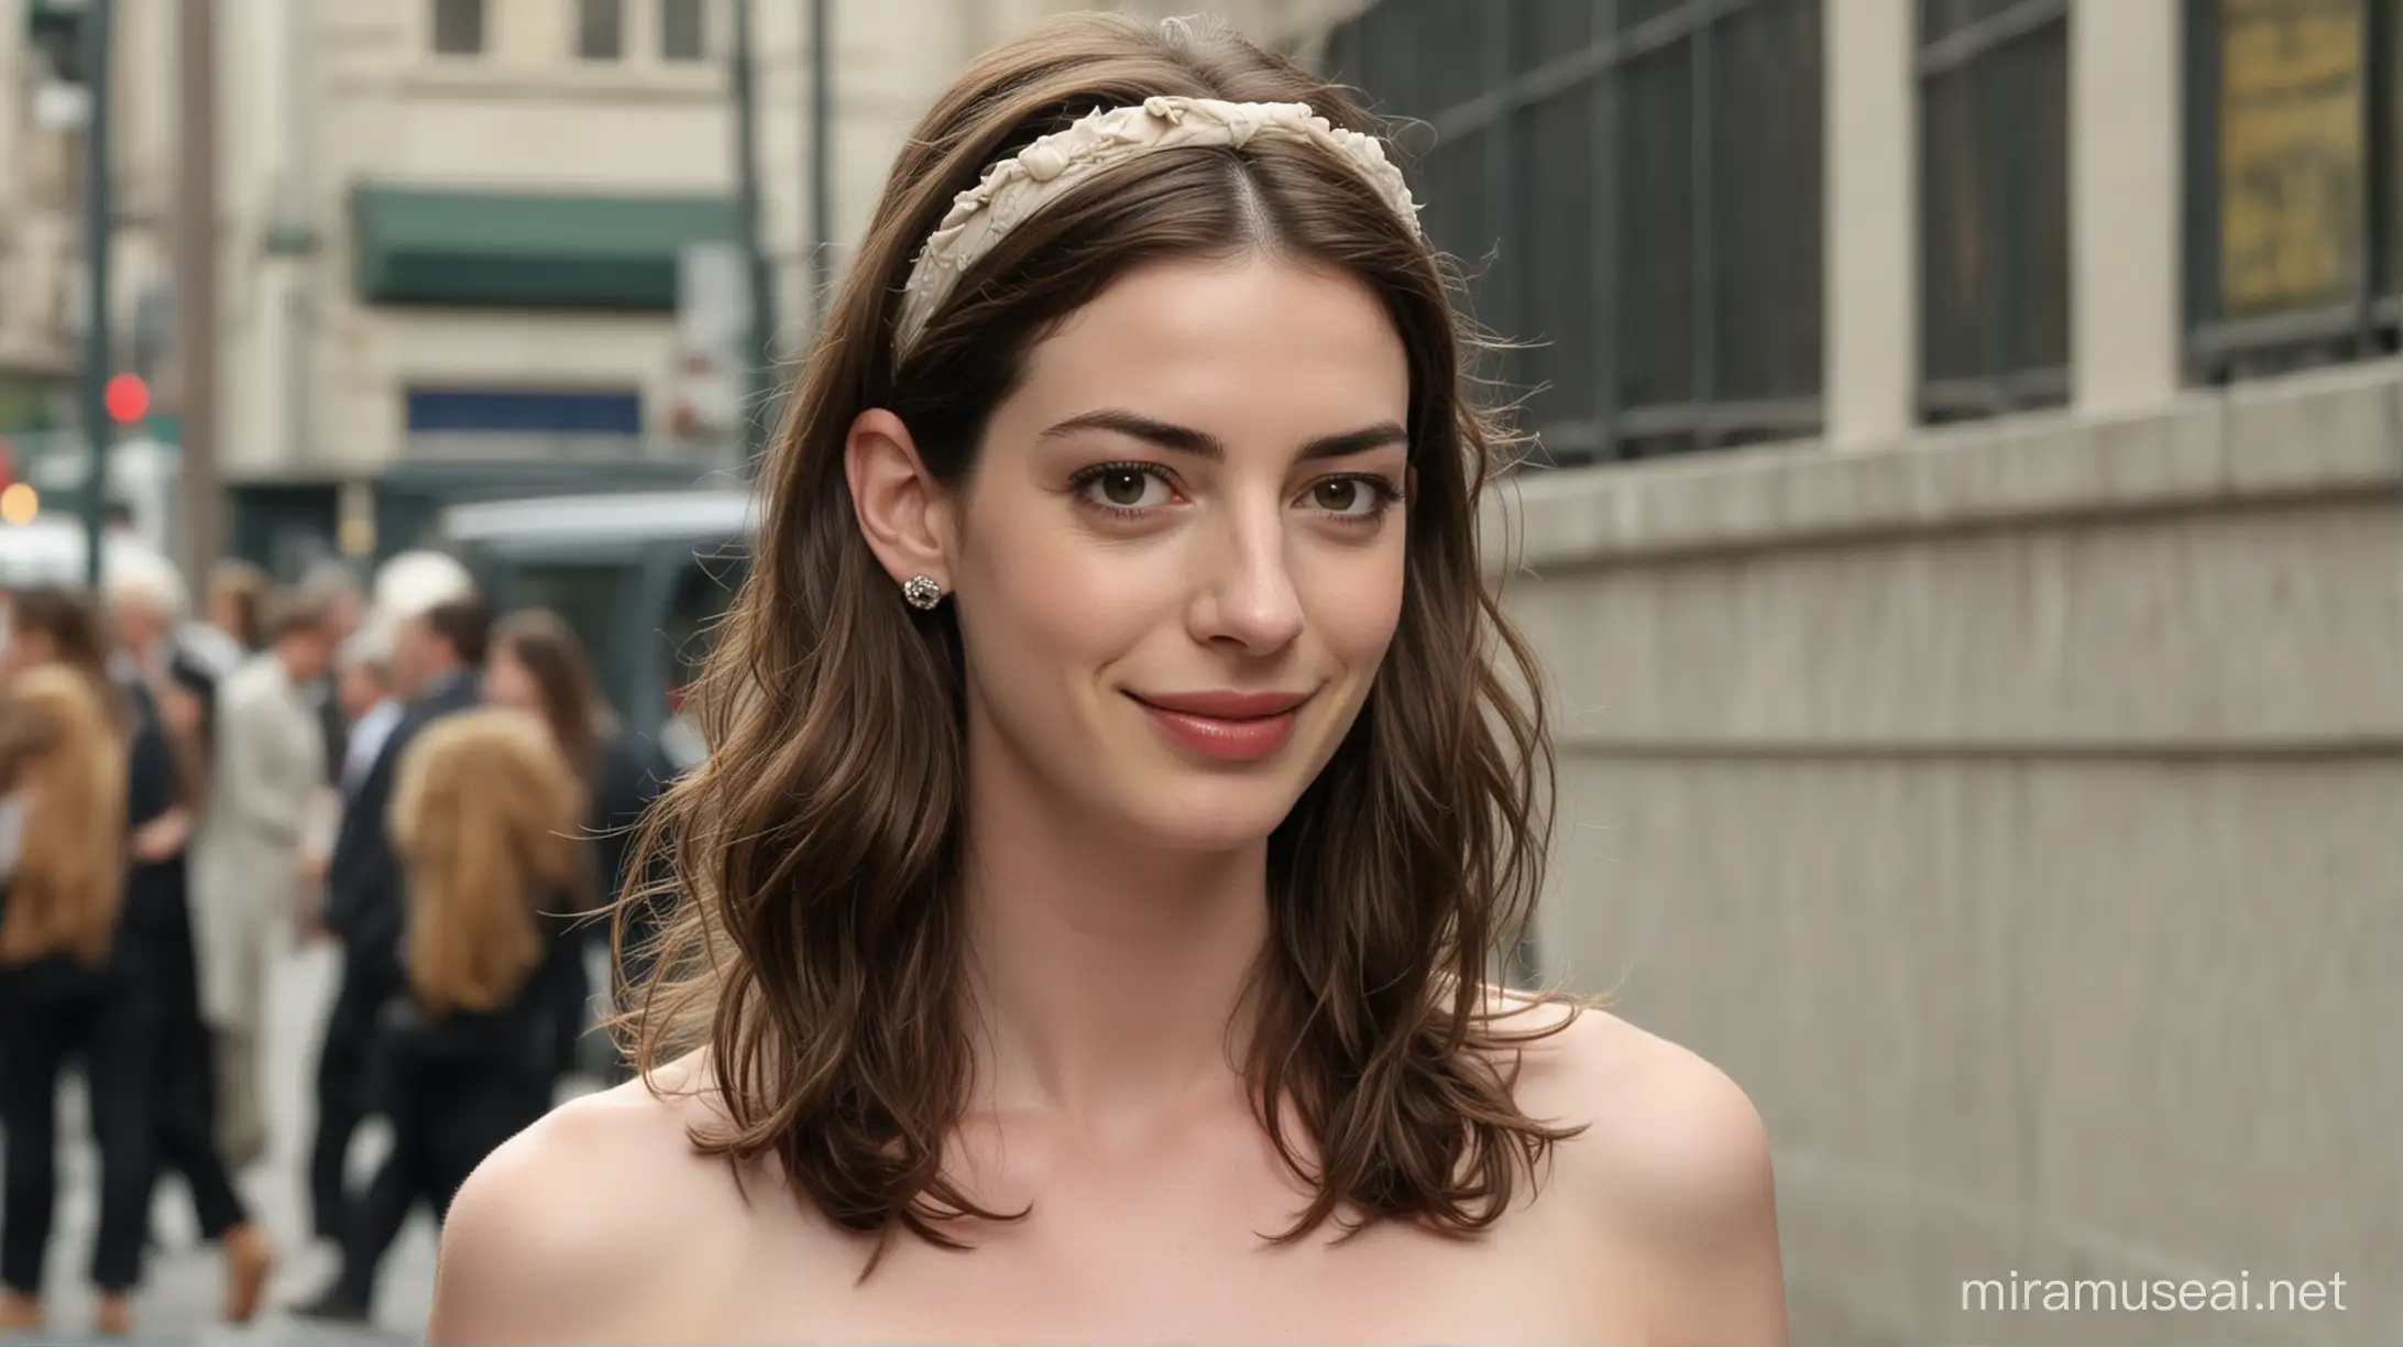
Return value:
M 690 1128 L 711 1114 L 682 1058 L 567 1102 L 495 1150 L 452 1198 L 428 1342 L 596 1342 L 637 1330 L 661 1287 L 706 1268 L 733 1183 Z M 661 1234 L 675 1232 L 675 1239 Z

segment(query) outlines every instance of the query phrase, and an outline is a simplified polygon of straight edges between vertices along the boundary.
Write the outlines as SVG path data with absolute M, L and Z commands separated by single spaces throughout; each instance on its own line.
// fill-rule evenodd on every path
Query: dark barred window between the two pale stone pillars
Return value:
M 1920 0 L 1920 414 L 2069 399 L 2069 0 Z

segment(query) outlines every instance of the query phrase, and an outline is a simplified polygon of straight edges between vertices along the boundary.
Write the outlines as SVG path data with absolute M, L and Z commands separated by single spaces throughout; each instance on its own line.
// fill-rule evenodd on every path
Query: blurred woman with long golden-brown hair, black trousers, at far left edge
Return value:
M 0 1330 L 43 1328 L 58 1203 L 58 1082 L 82 1058 L 101 1152 L 94 1325 L 132 1328 L 149 1205 L 151 1106 L 144 998 L 115 957 L 125 902 L 125 707 L 99 618 L 36 587 L 10 601 L 0 784 L 14 844 L 0 895 Z

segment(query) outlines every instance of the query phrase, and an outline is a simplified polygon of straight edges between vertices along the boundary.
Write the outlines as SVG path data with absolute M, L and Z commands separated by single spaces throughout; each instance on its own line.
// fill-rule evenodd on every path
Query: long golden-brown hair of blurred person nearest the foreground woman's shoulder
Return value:
M 409 873 L 409 989 L 430 1015 L 497 1010 L 543 962 L 545 902 L 586 890 L 584 784 L 512 710 L 428 724 L 401 753 L 392 844 Z

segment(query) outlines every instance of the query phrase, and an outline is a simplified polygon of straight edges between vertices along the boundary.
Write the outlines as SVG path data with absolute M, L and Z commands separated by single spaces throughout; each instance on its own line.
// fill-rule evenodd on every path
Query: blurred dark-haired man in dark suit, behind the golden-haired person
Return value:
M 490 613 L 466 592 L 404 613 L 392 628 L 392 681 L 406 710 L 356 789 L 346 791 L 327 868 L 327 931 L 341 943 L 341 989 L 317 1058 L 317 1138 L 310 1147 L 310 1207 L 320 1239 L 344 1239 L 351 1135 L 368 1116 L 377 1020 L 401 977 L 404 878 L 392 851 L 392 784 L 409 743 L 433 722 L 476 705 Z

